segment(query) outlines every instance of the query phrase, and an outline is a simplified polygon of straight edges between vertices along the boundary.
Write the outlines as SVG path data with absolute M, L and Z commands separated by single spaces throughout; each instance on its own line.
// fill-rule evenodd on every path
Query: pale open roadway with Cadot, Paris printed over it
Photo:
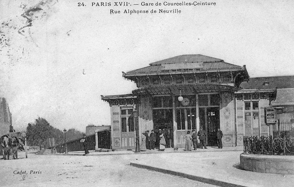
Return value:
M 20 152 L 20 159 L 0 160 L 0 186 L 213 186 L 130 166 L 131 161 L 149 155 L 29 154 L 25 159 L 24 152 Z M 26 171 L 26 174 L 14 174 L 14 171 Z

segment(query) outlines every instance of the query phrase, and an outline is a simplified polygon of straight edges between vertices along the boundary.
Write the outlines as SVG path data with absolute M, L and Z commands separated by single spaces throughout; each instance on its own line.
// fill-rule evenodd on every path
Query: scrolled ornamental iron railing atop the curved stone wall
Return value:
M 294 155 L 294 137 L 243 136 L 244 153 L 266 155 Z

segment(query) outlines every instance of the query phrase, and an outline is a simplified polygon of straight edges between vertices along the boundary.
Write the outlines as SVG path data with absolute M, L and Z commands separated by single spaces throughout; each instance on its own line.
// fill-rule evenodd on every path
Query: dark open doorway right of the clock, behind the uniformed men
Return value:
M 200 127 L 207 132 L 207 146 L 217 146 L 216 133 L 220 128 L 219 107 L 202 107 L 199 108 Z

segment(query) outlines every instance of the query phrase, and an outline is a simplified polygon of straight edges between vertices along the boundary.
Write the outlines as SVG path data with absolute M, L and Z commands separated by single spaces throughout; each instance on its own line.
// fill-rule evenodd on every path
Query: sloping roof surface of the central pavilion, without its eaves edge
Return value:
M 160 60 L 149 64 L 150 66 L 132 70 L 126 73 L 146 73 L 146 72 L 158 72 L 158 71 L 169 71 L 169 70 L 181 70 L 181 69 L 230 69 L 230 68 L 242 68 L 239 65 L 225 63 L 223 60 L 213 58 L 205 55 L 179 55 L 176 57 Z

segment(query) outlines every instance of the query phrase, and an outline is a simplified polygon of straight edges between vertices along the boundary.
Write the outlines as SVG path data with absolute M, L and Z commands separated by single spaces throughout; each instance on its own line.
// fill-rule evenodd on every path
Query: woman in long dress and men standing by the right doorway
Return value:
M 185 145 L 185 151 L 192 151 L 192 149 L 194 148 L 194 150 L 197 150 L 197 136 L 199 137 L 199 141 L 200 141 L 200 146 L 201 149 L 207 149 L 206 147 L 206 131 L 203 130 L 203 127 L 200 128 L 200 130 L 198 131 L 197 135 L 196 135 L 196 130 L 193 129 L 192 130 L 192 136 L 190 135 L 190 131 L 187 132 L 187 134 L 185 135 L 185 139 L 186 139 L 186 145 Z M 222 139 L 223 137 L 223 132 L 218 129 L 218 132 L 216 133 L 216 141 L 218 144 L 218 149 L 223 149 L 223 144 L 222 144 Z M 193 144 L 192 144 L 193 142 Z

